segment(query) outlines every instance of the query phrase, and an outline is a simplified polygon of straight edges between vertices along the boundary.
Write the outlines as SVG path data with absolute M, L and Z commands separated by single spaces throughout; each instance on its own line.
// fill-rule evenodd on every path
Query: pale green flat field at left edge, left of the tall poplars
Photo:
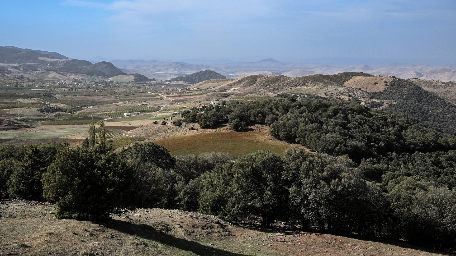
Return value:
M 87 130 L 88 128 L 27 130 L 23 133 L 0 133 L 0 138 L 60 138 L 62 136 L 85 132 Z

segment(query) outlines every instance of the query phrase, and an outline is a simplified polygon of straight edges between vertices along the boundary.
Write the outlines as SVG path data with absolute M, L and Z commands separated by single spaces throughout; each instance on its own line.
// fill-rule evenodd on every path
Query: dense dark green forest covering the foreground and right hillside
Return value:
M 356 102 L 284 97 L 221 102 L 181 117 L 202 128 L 228 122 L 234 131 L 266 124 L 272 136 L 313 152 L 292 147 L 283 158 L 258 151 L 233 160 L 214 152 L 171 156 L 151 142 L 114 152 L 103 128 L 98 142 L 90 129 L 82 148 L 1 145 L 1 197 L 54 202 L 57 218 L 100 220 L 135 207 L 177 208 L 265 227 L 289 221 L 320 232 L 439 249 L 456 245 L 451 122 L 442 127 Z

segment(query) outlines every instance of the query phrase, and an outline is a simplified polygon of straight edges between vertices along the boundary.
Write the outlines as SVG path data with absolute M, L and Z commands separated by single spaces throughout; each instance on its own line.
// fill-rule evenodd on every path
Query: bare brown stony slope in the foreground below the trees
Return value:
M 0 201 L 0 255 L 346 256 L 448 255 L 356 234 L 301 231 L 299 225 L 235 224 L 191 211 L 137 209 L 105 223 L 57 220 L 56 205 Z M 292 231 L 293 230 L 293 231 Z

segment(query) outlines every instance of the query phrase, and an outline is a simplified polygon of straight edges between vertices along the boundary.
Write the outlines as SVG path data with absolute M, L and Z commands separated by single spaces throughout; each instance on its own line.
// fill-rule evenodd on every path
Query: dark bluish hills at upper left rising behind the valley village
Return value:
M 20 64 L 10 66 L 18 71 L 57 70 L 62 72 L 108 77 L 122 73 L 112 63 L 100 61 L 92 64 L 89 61 L 70 59 L 57 52 L 0 46 L 0 63 Z

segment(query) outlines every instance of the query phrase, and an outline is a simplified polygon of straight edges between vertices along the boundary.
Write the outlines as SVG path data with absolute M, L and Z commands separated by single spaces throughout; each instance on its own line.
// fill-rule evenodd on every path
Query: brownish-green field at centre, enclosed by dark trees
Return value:
M 283 156 L 289 145 L 264 139 L 268 133 L 197 133 L 192 135 L 163 138 L 154 141 L 167 148 L 172 155 L 200 154 L 204 152 L 226 152 L 233 157 L 258 150 L 270 150 Z

